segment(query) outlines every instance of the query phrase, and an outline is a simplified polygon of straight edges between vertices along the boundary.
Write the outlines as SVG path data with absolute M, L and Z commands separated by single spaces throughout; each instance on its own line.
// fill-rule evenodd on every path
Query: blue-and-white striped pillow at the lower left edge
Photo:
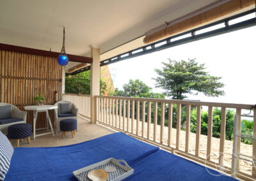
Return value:
M 0 180 L 4 180 L 9 170 L 12 155 L 13 147 L 8 138 L 0 131 Z

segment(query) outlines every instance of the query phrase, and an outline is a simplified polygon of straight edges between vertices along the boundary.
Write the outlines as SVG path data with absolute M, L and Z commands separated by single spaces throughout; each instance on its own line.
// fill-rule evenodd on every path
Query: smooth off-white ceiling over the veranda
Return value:
M 65 25 L 68 54 L 102 54 L 216 1 L 1 0 L 0 43 L 59 52 Z

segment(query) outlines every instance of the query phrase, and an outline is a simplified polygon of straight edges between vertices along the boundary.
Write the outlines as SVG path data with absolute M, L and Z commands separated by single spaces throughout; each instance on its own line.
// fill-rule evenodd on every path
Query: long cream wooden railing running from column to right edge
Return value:
M 147 98 L 124 98 L 114 96 L 96 96 L 97 101 L 97 122 L 104 126 L 112 127 L 123 131 L 135 138 L 147 141 L 159 147 L 176 152 L 182 156 L 189 157 L 198 162 L 214 166 L 218 169 L 225 169 L 228 173 L 231 170 L 232 146 L 225 147 L 226 115 L 227 108 L 236 110 L 241 114 L 242 110 L 250 110 L 252 105 L 211 103 L 202 101 L 183 101 L 173 99 L 147 99 Z M 177 106 L 175 115 L 173 105 Z M 182 108 L 186 106 L 186 129 L 181 129 Z M 191 108 L 196 108 L 196 133 L 190 131 Z M 221 108 L 220 138 L 212 137 L 212 120 L 214 107 Z M 207 135 L 201 134 L 201 113 L 202 108 L 208 110 Z M 159 115 L 160 113 L 160 115 Z M 168 116 L 166 116 L 168 113 Z M 254 111 L 255 115 L 256 111 Z M 173 117 L 176 119 L 176 127 L 172 126 Z M 160 119 L 157 123 L 157 119 Z M 168 121 L 168 126 L 164 122 Z M 256 122 L 256 119 L 253 120 Z M 148 124 L 148 122 L 150 124 Z M 241 119 L 239 119 L 238 130 L 241 131 Z M 254 124 L 255 125 L 255 124 Z M 256 127 L 253 128 L 256 135 Z M 193 138 L 195 136 L 195 138 Z M 191 142 L 191 139 L 195 142 Z M 207 141 L 206 141 L 207 140 Z M 212 145 L 217 140 L 218 146 Z M 204 143 L 205 142 L 205 143 Z M 229 142 L 228 142 L 229 143 Z M 238 150 L 241 148 L 241 139 L 237 139 Z M 232 144 L 231 144 L 232 145 Z M 206 150 L 204 149 L 206 148 Z M 217 148 L 216 148 L 217 147 Z M 217 152 L 214 150 L 217 149 Z M 231 153 L 226 154 L 231 149 Z M 252 152 L 256 149 L 253 142 Z M 252 155 L 255 155 L 252 153 Z M 227 163 L 224 157 L 230 158 Z M 237 166 L 239 162 L 237 163 Z M 238 177 L 246 180 L 256 178 L 255 168 L 251 172 L 237 171 Z

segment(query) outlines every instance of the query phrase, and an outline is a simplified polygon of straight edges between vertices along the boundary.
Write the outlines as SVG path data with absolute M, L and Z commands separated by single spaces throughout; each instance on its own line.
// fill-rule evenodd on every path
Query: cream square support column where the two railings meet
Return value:
M 95 96 L 100 95 L 100 50 L 99 48 L 91 48 L 91 56 L 93 58 L 93 62 L 91 64 L 91 115 L 90 120 L 92 124 L 96 123 L 97 117 L 97 103 Z

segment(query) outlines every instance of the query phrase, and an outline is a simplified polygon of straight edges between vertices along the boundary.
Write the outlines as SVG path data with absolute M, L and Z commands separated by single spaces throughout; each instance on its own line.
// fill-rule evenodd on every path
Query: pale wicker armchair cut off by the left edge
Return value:
M 8 103 L 0 103 L 0 106 L 11 105 Z M 27 122 L 27 112 L 19 110 L 14 105 L 11 105 L 11 117 L 0 119 L 0 131 L 7 134 L 8 127 L 13 124 L 26 123 Z

